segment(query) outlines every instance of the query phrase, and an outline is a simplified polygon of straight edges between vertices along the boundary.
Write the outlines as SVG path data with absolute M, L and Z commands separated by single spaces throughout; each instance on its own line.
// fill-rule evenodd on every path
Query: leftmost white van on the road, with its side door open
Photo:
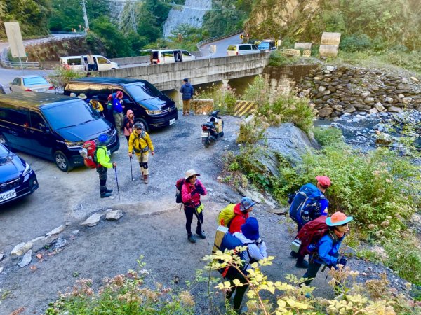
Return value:
M 89 61 L 91 62 L 88 62 L 88 59 L 90 59 Z M 109 59 L 100 55 L 60 57 L 60 66 L 80 72 L 104 71 L 120 68 L 119 64 L 116 62 L 109 61 Z

